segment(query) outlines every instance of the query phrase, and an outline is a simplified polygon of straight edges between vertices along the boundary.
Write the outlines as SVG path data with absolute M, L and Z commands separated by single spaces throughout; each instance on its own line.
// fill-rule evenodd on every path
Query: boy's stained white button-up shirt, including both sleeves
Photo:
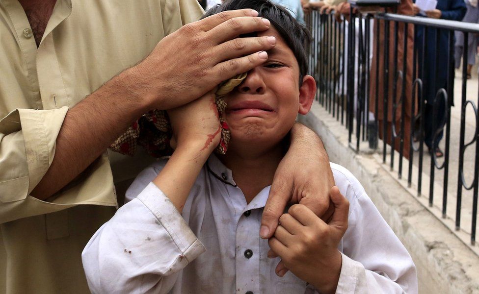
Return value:
M 127 192 L 131 201 L 83 250 L 93 293 L 317 293 L 291 272 L 278 277 L 279 258 L 266 256 L 259 230 L 270 187 L 246 204 L 231 170 L 212 155 L 180 215 L 151 183 L 165 163 L 138 175 Z M 416 268 L 404 246 L 358 180 L 331 167 L 350 202 L 337 293 L 417 293 Z

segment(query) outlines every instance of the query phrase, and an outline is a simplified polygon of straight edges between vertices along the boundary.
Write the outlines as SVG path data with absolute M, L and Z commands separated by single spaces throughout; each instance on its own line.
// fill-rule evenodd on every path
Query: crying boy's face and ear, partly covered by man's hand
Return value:
M 278 144 L 290 131 L 297 114 L 309 112 L 316 94 L 316 82 L 310 75 L 299 86 L 296 57 L 276 29 L 271 26 L 258 36 L 276 37 L 276 46 L 267 52 L 268 60 L 249 71 L 245 80 L 224 98 L 231 147 Z

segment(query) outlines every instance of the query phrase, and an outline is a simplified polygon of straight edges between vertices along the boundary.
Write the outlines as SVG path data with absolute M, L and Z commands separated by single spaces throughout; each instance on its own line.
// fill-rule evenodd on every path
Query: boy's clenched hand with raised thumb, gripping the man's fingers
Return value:
M 329 224 L 301 204 L 293 205 L 280 218 L 274 236 L 269 239 L 268 257 L 281 257 L 276 274 L 291 270 L 298 278 L 313 284 L 320 293 L 334 293 L 341 273 L 342 258 L 338 245 L 347 229 L 349 202 L 331 188 L 335 211 Z

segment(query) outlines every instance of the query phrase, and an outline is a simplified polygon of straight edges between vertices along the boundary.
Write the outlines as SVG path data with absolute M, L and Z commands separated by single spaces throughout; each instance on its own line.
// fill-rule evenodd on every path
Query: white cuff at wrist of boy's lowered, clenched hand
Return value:
M 367 293 L 364 266 L 341 253 L 343 262 L 336 294 Z

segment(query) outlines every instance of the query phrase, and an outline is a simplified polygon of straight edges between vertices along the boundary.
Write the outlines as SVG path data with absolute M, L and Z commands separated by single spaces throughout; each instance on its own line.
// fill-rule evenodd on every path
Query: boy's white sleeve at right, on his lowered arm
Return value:
M 349 215 L 337 294 L 418 293 L 414 262 L 367 195 Z M 348 236 L 346 236 L 348 235 Z

